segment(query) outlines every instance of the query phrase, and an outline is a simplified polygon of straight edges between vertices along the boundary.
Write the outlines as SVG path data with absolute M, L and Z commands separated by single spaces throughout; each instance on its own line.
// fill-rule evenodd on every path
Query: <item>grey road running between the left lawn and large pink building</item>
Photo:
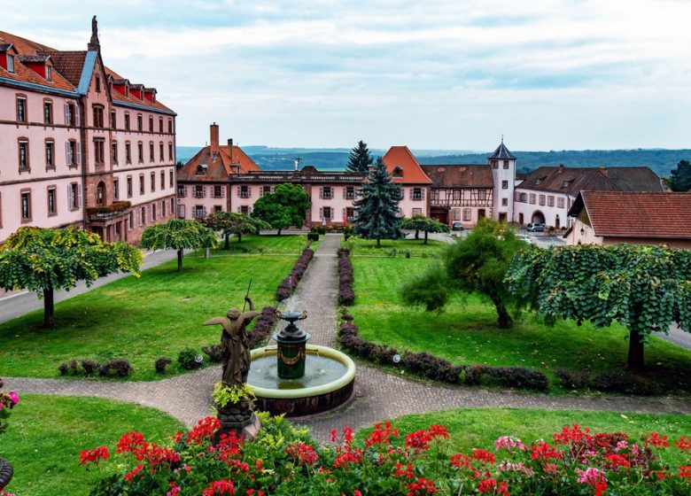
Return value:
M 165 250 L 161 252 L 148 252 L 144 254 L 144 264 L 142 270 L 156 267 L 157 265 L 175 259 L 175 250 Z M 97 279 L 91 284 L 91 288 L 87 288 L 83 282 L 77 283 L 77 286 L 70 291 L 55 291 L 55 303 L 63 301 L 67 298 L 73 298 L 89 289 L 103 286 L 107 283 L 112 283 L 123 277 L 130 277 L 129 274 L 111 274 Z M 0 298 L 0 323 L 10 321 L 23 314 L 33 312 L 34 310 L 43 309 L 43 299 L 39 299 L 36 293 L 23 291 L 4 298 Z

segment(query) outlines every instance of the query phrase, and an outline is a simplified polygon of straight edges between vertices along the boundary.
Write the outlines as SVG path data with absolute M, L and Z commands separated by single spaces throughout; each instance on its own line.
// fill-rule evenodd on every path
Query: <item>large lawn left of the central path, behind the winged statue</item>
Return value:
M 182 273 L 175 260 L 126 277 L 56 305 L 58 328 L 41 329 L 43 311 L 0 324 L 0 363 L 6 376 L 58 376 L 67 360 L 99 362 L 124 358 L 133 379 L 160 378 L 154 360 L 167 356 L 177 369 L 182 349 L 217 343 L 219 326 L 202 322 L 242 309 L 247 284 L 257 307 L 273 305 L 276 286 L 291 271 L 296 256 L 186 256 Z M 167 376 L 170 375 L 167 374 Z

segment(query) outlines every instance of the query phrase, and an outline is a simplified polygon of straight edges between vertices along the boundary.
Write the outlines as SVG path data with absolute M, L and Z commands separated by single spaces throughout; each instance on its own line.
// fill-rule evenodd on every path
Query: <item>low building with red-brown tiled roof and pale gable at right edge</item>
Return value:
M 691 249 L 691 192 L 582 191 L 567 244 L 665 244 Z

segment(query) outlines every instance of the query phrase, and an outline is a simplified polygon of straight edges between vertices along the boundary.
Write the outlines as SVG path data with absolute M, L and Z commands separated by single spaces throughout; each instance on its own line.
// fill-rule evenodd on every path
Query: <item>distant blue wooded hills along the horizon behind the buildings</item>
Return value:
M 177 158 L 182 163 L 191 159 L 200 147 L 178 146 Z M 290 170 L 293 160 L 300 158 L 300 167 L 343 170 L 348 161 L 347 148 L 271 148 L 262 145 L 243 146 L 243 150 L 265 170 Z M 384 155 L 384 150 L 372 150 L 372 155 Z M 492 151 L 413 150 L 421 164 L 485 164 Z M 679 160 L 691 159 L 691 150 L 562 150 L 514 151 L 517 172 L 528 172 L 540 166 L 566 167 L 650 167 L 656 174 L 668 177 Z

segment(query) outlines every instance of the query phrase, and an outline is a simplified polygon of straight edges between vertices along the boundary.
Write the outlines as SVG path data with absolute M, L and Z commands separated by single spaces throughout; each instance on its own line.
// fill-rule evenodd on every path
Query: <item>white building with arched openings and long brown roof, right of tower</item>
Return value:
M 538 167 L 516 185 L 513 220 L 568 229 L 571 205 L 586 190 L 664 192 L 664 183 L 648 167 Z

